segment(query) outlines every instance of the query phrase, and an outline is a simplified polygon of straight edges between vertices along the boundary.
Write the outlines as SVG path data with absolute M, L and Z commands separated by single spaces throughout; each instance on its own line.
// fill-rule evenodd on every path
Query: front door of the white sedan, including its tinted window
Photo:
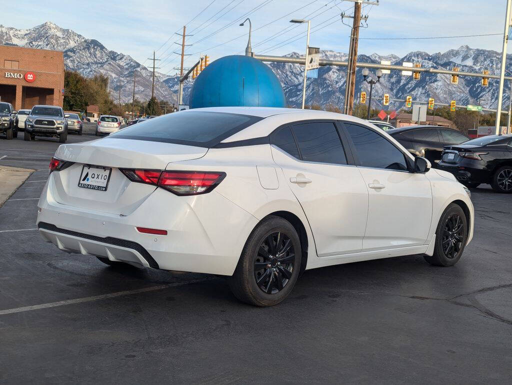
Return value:
M 354 160 L 368 188 L 362 250 L 425 244 L 432 220 L 432 189 L 425 174 L 385 134 L 344 122 Z

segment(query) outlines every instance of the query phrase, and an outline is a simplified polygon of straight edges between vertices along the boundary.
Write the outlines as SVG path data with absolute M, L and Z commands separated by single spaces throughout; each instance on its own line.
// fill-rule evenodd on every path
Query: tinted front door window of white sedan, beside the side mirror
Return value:
M 407 171 L 405 155 L 377 132 L 345 123 L 361 166 Z

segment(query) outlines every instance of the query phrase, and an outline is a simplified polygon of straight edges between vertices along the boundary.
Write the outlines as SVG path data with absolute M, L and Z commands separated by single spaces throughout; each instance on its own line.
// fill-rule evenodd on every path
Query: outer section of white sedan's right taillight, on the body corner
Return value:
M 177 195 L 199 195 L 213 190 L 225 172 L 163 171 L 158 186 Z

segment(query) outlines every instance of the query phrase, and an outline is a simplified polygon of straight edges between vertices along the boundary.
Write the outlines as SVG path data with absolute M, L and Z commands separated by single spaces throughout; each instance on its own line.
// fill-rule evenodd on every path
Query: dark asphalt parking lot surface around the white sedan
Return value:
M 36 170 L 0 208 L 0 382 L 512 381 L 510 195 L 472 190 L 475 236 L 454 267 L 416 255 L 308 270 L 256 308 L 223 278 L 45 243 L 37 199 L 59 144 L 20 138 L 0 140 L 0 165 Z

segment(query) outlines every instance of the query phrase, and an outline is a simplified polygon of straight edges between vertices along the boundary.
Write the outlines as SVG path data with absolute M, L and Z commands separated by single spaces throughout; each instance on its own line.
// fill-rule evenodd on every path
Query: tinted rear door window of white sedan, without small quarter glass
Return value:
M 302 159 L 307 162 L 347 164 L 336 126 L 331 122 L 312 122 L 293 126 Z

